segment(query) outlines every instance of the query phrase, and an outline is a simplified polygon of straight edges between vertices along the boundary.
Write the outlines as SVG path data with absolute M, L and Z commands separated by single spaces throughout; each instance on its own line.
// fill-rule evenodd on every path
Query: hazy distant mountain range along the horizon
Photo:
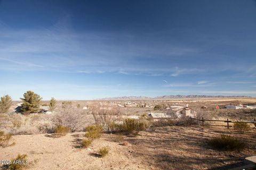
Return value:
M 97 100 L 154 100 L 154 99 L 192 99 L 192 98 L 249 98 L 250 96 L 207 96 L 207 95 L 167 95 L 157 97 L 147 96 L 121 96 L 108 97 Z

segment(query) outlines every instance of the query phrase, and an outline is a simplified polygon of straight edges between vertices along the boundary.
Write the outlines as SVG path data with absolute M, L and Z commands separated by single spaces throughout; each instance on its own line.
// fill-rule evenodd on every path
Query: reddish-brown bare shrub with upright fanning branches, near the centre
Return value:
M 121 114 L 119 108 L 100 109 L 99 107 L 93 107 L 91 113 L 96 124 L 100 124 L 104 130 L 108 130 L 108 125 L 117 120 L 117 116 Z

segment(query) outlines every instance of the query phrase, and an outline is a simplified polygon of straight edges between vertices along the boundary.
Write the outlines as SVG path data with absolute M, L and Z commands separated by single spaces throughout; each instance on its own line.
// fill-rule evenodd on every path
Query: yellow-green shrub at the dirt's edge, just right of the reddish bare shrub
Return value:
M 148 128 L 146 120 L 137 120 L 134 118 L 126 118 L 121 126 L 121 131 L 131 133 L 133 131 L 142 131 Z

